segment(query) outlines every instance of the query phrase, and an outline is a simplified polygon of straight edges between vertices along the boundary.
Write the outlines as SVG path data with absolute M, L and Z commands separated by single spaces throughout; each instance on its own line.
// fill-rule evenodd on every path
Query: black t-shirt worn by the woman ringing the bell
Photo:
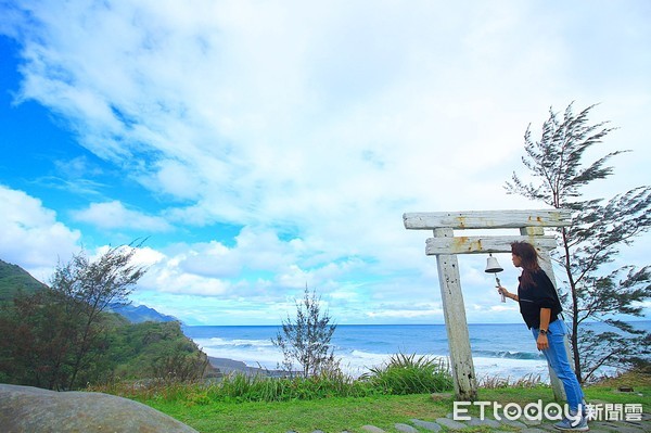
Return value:
M 551 309 L 550 323 L 558 319 L 559 314 L 563 310 L 559 295 L 547 273 L 542 269 L 538 269 L 531 275 L 534 281 L 532 286 L 523 288 L 522 277 L 519 278 L 520 284 L 518 285 L 520 314 L 529 329 L 540 327 L 540 308 Z

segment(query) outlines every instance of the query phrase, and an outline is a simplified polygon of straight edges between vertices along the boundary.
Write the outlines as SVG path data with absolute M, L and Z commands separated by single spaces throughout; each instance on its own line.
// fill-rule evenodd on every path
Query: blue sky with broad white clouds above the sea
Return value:
M 647 0 L 0 0 L 0 258 L 48 282 L 145 240 L 130 300 L 187 324 L 278 324 L 306 286 L 336 323 L 443 323 L 403 214 L 544 208 L 505 182 L 571 103 L 617 128 L 588 157 L 630 150 L 586 194 L 649 184 L 650 23 Z M 485 266 L 459 256 L 468 321 L 520 322 Z

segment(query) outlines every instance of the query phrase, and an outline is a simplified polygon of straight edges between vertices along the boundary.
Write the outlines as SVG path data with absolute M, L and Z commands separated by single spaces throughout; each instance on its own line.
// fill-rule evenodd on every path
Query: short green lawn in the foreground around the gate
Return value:
M 412 368 L 414 365 L 427 369 L 430 362 L 423 359 L 398 357 L 393 367 L 403 366 L 405 375 L 398 375 L 400 369 L 382 369 L 376 374 L 390 372 L 396 383 L 404 383 L 414 377 Z M 387 366 L 388 367 L 388 366 Z M 395 375 L 394 375 L 395 374 Z M 418 378 L 418 374 L 416 374 Z M 331 378 L 332 379 L 332 378 Z M 238 382 L 240 381 L 240 382 Z M 228 384 L 231 392 L 234 389 L 241 391 L 251 390 L 255 380 L 243 382 L 244 379 L 234 379 Z M 336 384 L 336 380 L 334 381 Z M 422 380 L 416 381 L 418 384 Z M 312 385 L 297 382 L 303 392 L 307 391 L 308 399 L 294 396 L 284 400 L 252 400 L 225 396 L 219 393 L 217 386 L 197 384 L 162 384 L 159 387 L 141 389 L 138 386 L 115 387 L 113 390 L 95 390 L 112 392 L 114 394 L 138 399 L 179 421 L 196 429 L 202 433 L 210 432 L 265 432 L 286 433 L 294 431 L 298 433 L 321 430 L 327 433 L 350 432 L 363 433 L 365 424 L 372 424 L 388 433 L 397 433 L 396 423 L 410 424 L 411 419 L 434 421 L 452 412 L 454 397 L 451 391 L 447 394 L 437 394 L 433 398 L 431 392 L 420 392 L 409 395 L 386 395 L 375 390 L 365 396 L 323 396 L 314 391 Z M 386 380 L 379 383 L 386 384 Z M 340 383 L 339 386 L 342 384 Z M 622 385 L 633 386 L 634 393 L 622 393 L 617 389 Z M 263 389 L 270 386 L 265 382 Z M 279 386 L 279 385 L 276 385 Z M 385 386 L 397 391 L 399 386 Z M 130 390 L 130 391 L 129 391 Z M 584 389 L 586 399 L 589 403 L 615 403 L 615 404 L 642 404 L 643 409 L 649 411 L 651 403 L 651 375 L 648 373 L 626 373 L 616 379 L 610 379 L 599 384 Z M 505 382 L 485 381 L 478 390 L 478 399 L 483 402 L 498 402 L 501 405 L 516 403 L 525 406 L 538 399 L 542 404 L 553 402 L 553 393 L 547 385 L 540 384 L 534 379 Z M 470 406 L 471 415 L 478 415 L 477 406 Z M 502 428 L 502 430 L 512 430 Z M 424 430 L 420 429 L 421 432 Z M 487 428 L 468 429 L 469 433 L 486 433 Z

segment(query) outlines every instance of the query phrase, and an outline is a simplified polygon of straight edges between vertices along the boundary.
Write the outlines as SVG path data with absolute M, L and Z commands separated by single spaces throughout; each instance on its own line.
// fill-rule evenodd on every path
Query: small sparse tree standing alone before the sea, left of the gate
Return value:
M 296 301 L 296 320 L 288 319 L 282 322 L 282 332 L 278 331 L 271 339 L 275 346 L 283 353 L 280 366 L 292 374 L 294 361 L 301 366 L 304 378 L 319 374 L 335 365 L 334 349 L 330 345 L 336 324 L 331 323 L 328 311 L 321 314 L 320 298 L 315 291 L 309 293 L 307 284 L 303 301 Z

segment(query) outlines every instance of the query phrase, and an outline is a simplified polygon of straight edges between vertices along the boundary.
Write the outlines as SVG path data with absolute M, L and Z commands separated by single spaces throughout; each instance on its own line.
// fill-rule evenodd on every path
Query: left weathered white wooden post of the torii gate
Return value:
M 454 235 L 452 229 L 436 229 L 434 233 L 442 238 Z M 456 255 L 445 254 L 436 257 L 436 265 L 438 267 L 438 281 L 450 351 L 455 394 L 461 400 L 474 402 L 477 399 L 477 383 L 465 320 L 459 263 Z

